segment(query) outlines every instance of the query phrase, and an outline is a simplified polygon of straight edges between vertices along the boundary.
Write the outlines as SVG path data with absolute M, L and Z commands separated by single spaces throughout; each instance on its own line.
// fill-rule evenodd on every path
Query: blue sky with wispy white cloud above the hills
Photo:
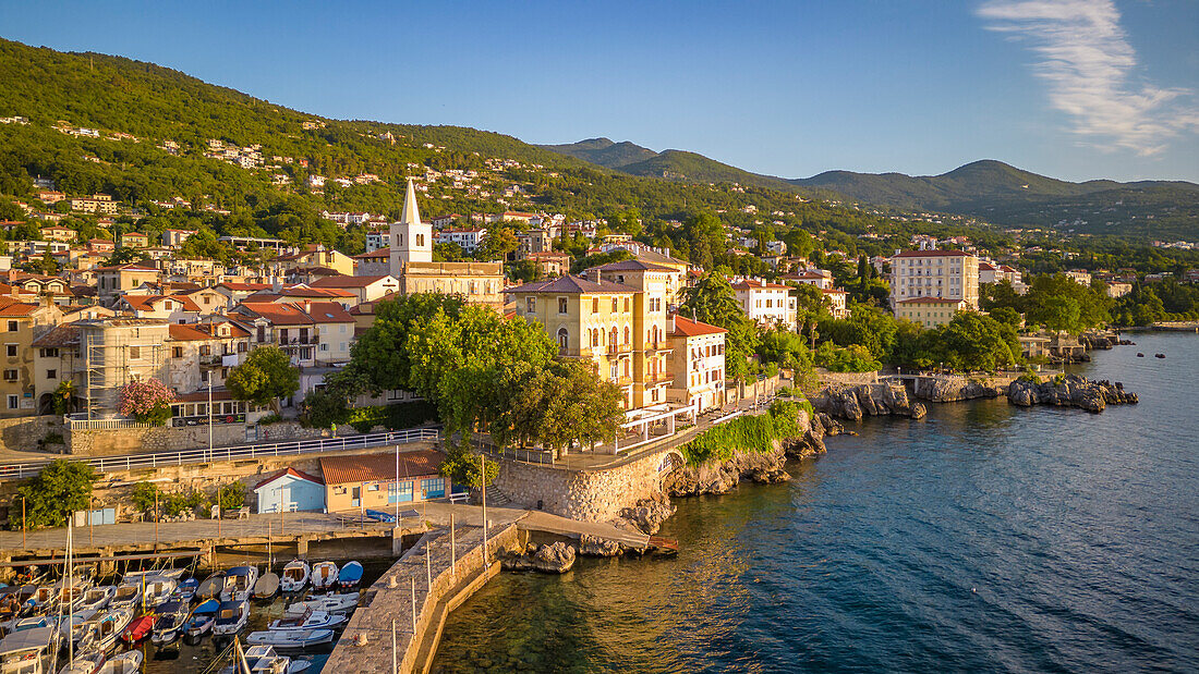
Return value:
M 1195 0 L 0 0 L 0 37 L 329 117 L 608 136 L 783 177 L 999 159 L 1199 182 Z

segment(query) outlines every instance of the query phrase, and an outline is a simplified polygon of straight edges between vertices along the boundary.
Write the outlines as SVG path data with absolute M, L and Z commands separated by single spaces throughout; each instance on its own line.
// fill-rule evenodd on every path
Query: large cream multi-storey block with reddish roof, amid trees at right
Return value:
M 905 250 L 891 259 L 891 306 L 894 316 L 910 317 L 920 312 L 944 314 L 928 298 L 953 300 L 962 309 L 978 309 L 978 257 L 962 250 Z M 939 318 L 940 316 L 938 316 Z M 952 316 L 951 316 L 952 317 Z

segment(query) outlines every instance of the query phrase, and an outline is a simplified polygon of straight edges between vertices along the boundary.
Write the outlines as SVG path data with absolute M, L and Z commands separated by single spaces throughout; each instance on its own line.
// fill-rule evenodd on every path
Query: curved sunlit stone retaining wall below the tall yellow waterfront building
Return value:
M 662 479 L 676 464 L 671 456 L 657 451 L 600 470 L 568 470 L 500 459 L 494 485 L 522 505 L 536 506 L 540 500 L 554 515 L 607 522 L 622 509 L 662 493 Z

